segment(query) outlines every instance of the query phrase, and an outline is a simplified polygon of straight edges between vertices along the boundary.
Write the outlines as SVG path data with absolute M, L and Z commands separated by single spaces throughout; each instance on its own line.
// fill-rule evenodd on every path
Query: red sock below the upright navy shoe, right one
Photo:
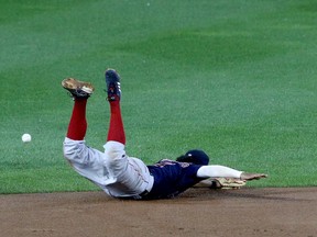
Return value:
M 119 101 L 110 102 L 110 125 L 107 140 L 116 140 L 125 145 L 125 134 Z

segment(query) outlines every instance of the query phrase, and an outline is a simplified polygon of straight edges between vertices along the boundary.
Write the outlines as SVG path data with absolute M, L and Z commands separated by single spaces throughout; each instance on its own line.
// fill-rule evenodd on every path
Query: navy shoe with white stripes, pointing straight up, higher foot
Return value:
M 107 69 L 106 74 L 106 84 L 108 101 L 120 101 L 121 89 L 120 89 L 120 76 L 114 69 Z

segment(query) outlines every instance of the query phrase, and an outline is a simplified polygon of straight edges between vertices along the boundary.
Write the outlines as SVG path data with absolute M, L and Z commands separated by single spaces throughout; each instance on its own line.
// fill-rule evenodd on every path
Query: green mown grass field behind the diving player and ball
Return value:
M 102 149 L 108 67 L 122 77 L 131 156 L 201 148 L 270 174 L 254 187 L 316 185 L 316 11 L 314 0 L 0 0 L 0 193 L 96 190 L 63 159 L 73 101 L 61 81 L 96 86 L 86 140 Z

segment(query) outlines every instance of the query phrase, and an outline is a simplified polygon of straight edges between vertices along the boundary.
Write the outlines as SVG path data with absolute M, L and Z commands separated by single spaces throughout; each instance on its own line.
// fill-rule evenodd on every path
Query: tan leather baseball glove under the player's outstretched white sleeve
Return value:
M 245 180 L 233 178 L 209 178 L 200 181 L 196 188 L 209 188 L 209 189 L 240 189 L 247 184 Z

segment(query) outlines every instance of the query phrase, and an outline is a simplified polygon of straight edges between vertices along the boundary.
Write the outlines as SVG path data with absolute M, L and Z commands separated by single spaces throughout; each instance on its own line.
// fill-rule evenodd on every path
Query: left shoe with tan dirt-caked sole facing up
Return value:
M 62 86 L 63 88 L 69 91 L 69 93 L 72 94 L 74 99 L 75 98 L 79 98 L 79 99 L 89 98 L 95 90 L 91 83 L 79 81 L 74 78 L 64 79 L 62 81 Z

